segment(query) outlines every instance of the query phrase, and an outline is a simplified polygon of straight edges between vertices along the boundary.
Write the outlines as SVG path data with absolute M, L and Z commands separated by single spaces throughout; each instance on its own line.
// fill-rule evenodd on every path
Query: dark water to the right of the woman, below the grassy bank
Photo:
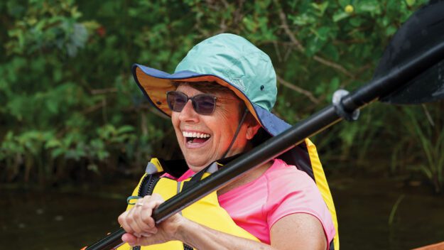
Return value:
M 413 249 L 444 241 L 444 196 L 417 185 L 388 178 L 331 180 L 341 249 Z

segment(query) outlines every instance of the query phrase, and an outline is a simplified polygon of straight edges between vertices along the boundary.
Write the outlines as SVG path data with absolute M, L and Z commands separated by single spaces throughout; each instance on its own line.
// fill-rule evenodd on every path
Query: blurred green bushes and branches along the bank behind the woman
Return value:
M 169 121 L 148 105 L 131 64 L 173 72 L 217 33 L 271 56 L 274 112 L 295 124 L 336 89 L 371 80 L 391 36 L 425 2 L 1 1 L 0 183 L 133 178 L 151 156 L 175 156 Z M 329 173 L 403 176 L 442 192 L 443 108 L 372 104 L 314 141 Z

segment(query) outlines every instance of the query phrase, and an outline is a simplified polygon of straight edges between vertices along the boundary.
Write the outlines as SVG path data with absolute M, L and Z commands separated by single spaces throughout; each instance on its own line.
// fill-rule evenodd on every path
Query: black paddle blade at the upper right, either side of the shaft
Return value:
M 374 79 L 440 43 L 444 43 L 444 1 L 432 1 L 413 13 L 396 32 L 384 51 Z M 390 104 L 421 104 L 440 99 L 444 99 L 444 60 L 379 100 Z

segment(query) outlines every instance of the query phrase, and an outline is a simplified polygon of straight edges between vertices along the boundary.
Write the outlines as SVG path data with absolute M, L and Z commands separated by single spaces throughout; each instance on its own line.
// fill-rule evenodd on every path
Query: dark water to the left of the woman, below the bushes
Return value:
M 126 200 L 3 190 L 0 206 L 0 249 L 80 249 L 119 228 Z

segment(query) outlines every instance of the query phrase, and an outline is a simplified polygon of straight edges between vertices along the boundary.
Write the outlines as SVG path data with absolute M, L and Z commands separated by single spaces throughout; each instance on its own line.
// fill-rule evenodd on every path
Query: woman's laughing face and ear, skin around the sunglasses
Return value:
M 189 85 L 179 85 L 177 91 L 183 92 L 188 97 L 202 94 Z M 218 99 L 215 112 L 210 115 L 197 114 L 191 101 L 188 101 L 181 112 L 173 112 L 171 115 L 180 149 L 188 166 L 194 172 L 198 172 L 213 161 L 222 158 L 234 137 L 242 116 L 239 114 L 241 101 L 234 94 L 212 93 L 212 95 Z M 226 157 L 244 151 L 247 140 L 251 139 L 256 131 L 251 134 L 253 131 L 244 122 Z

